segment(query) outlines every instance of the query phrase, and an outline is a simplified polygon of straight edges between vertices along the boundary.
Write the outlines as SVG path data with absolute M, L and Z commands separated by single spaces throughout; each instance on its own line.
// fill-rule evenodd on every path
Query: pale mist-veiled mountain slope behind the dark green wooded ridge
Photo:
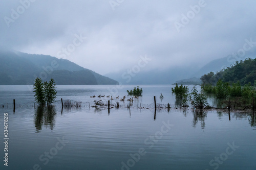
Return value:
M 106 74 L 105 76 L 121 82 L 122 84 L 174 84 L 174 83 L 192 83 L 200 84 L 200 78 L 210 71 L 217 72 L 223 68 L 229 67 L 236 61 L 246 58 L 256 58 L 256 50 L 251 50 L 243 57 L 228 55 L 226 57 L 215 59 L 202 67 L 176 66 L 165 70 L 140 71 L 138 74 L 130 75 L 127 70 Z

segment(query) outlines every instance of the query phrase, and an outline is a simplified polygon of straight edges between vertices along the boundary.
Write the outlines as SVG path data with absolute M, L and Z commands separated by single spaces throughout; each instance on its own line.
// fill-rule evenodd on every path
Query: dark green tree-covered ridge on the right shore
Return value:
M 255 86 L 256 59 L 248 58 L 244 61 L 237 61 L 230 67 L 227 67 L 216 74 L 214 72 L 209 72 L 208 74 L 203 75 L 200 80 L 203 84 L 211 85 L 216 85 L 218 80 L 222 80 L 223 82 L 228 82 L 230 84 L 239 81 L 241 85 L 251 83 Z

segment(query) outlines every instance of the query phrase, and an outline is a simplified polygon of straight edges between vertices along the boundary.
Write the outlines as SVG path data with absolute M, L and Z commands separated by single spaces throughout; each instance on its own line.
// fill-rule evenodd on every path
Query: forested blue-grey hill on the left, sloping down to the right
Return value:
M 58 85 L 104 85 L 118 82 L 69 60 L 0 50 L 0 84 L 33 84 L 36 77 L 53 78 Z

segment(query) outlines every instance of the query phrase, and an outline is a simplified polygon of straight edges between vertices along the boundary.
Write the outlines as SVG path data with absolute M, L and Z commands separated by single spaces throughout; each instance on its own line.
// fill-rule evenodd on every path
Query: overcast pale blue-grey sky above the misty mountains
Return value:
M 256 41 L 255 0 L 0 3 L 1 46 L 66 58 L 103 75 L 145 55 L 152 61 L 144 69 L 199 66 L 238 52 L 245 39 Z

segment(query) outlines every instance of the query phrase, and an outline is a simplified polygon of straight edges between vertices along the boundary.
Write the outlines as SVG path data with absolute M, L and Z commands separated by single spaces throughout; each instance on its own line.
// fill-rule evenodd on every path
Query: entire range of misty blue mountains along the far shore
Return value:
M 193 64 L 175 66 L 167 69 L 152 69 L 150 71 L 133 72 L 124 69 L 101 76 L 96 72 L 83 68 L 66 59 L 52 56 L 26 54 L 0 48 L 0 84 L 25 85 L 33 84 L 36 77 L 49 81 L 54 78 L 59 85 L 98 85 L 98 84 L 173 84 L 199 83 L 199 79 L 210 71 L 217 72 L 246 58 L 254 59 L 256 50 L 248 52 L 243 57 L 229 55 L 215 59 L 201 68 Z M 115 81 L 116 80 L 116 81 Z M 118 82 L 117 82 L 118 81 Z

